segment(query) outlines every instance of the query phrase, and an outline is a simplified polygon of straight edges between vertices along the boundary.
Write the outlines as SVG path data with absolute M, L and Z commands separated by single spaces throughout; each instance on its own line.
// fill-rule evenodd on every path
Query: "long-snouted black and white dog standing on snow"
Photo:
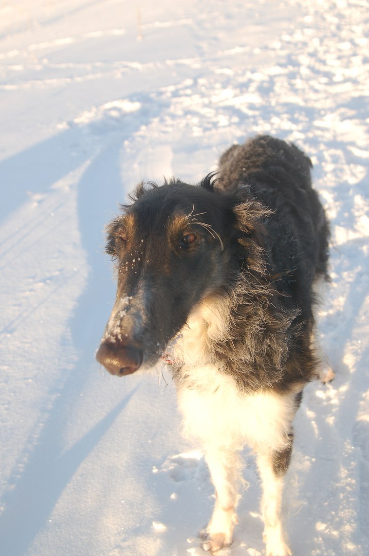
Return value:
M 198 185 L 141 183 L 107 228 L 118 289 L 97 360 L 113 375 L 171 365 L 184 432 L 200 441 L 216 501 L 203 548 L 231 544 L 241 450 L 256 454 L 268 556 L 291 555 L 285 475 L 302 390 L 316 378 L 314 284 L 329 229 L 293 144 L 231 146 Z

